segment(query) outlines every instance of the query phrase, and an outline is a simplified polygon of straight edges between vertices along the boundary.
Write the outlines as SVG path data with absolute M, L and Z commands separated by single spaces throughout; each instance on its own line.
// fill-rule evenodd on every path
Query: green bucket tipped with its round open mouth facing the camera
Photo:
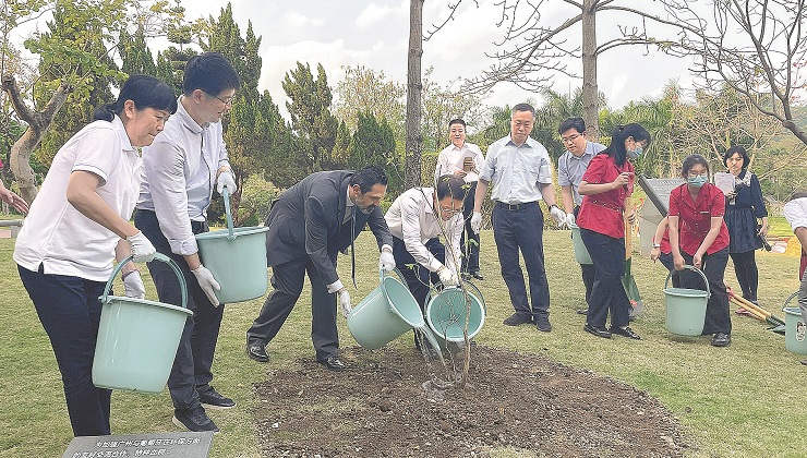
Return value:
M 466 294 L 468 301 L 466 301 Z M 479 334 L 485 322 L 485 310 L 475 294 L 460 288 L 444 288 L 433 297 L 426 298 L 426 323 L 437 339 L 449 342 L 463 342 L 466 337 L 466 316 L 468 317 L 468 338 Z M 469 312 L 470 309 L 470 313 Z

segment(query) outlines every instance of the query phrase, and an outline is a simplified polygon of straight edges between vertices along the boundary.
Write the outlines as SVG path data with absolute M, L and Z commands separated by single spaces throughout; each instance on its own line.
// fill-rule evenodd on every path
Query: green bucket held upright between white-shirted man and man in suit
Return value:
M 266 293 L 269 284 L 266 268 L 268 227 L 233 228 L 230 192 L 225 186 L 227 229 L 196 234 L 198 255 L 221 287 L 216 298 L 221 303 L 249 301 Z

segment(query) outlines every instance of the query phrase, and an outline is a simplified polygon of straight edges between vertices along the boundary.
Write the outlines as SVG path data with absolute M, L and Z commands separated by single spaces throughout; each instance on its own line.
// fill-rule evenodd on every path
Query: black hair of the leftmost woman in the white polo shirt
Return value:
M 111 122 L 116 114 L 123 112 L 127 100 L 132 100 L 138 110 L 154 108 L 171 114 L 177 111 L 177 96 L 162 80 L 148 75 L 132 75 L 123 83 L 118 100 L 98 107 L 93 120 Z

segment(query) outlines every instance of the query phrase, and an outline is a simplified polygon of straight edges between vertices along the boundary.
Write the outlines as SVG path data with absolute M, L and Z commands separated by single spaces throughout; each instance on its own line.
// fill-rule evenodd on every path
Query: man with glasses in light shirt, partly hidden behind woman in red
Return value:
M 578 189 L 582 174 L 589 167 L 591 159 L 605 149 L 605 145 L 589 142 L 586 135 L 586 121 L 582 118 L 567 118 L 557 129 L 566 153 L 557 159 L 557 184 L 561 186 L 561 201 L 563 201 L 566 219 L 563 221 L 567 227 L 575 226 L 575 218 L 580 212 L 582 196 Z M 586 287 L 587 308 L 579 309 L 577 313 L 588 313 L 588 303 L 591 299 L 591 287 L 594 285 L 594 265 L 580 264 L 582 270 L 582 284 Z

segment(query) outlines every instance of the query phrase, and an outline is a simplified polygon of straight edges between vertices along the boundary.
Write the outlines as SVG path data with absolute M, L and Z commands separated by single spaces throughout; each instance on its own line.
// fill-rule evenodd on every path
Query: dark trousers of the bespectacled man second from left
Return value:
M 188 318 L 182 329 L 177 357 L 168 376 L 168 389 L 174 409 L 196 408 L 200 406 L 198 394 L 210 388 L 213 359 L 225 304 L 214 306 L 198 286 L 196 276 L 191 273 L 184 257 L 171 252 L 154 212 L 138 209 L 134 215 L 134 226 L 148 238 L 157 252 L 177 263 L 188 285 L 188 309 L 193 311 L 193 316 Z M 191 226 L 194 233 L 208 230 L 206 222 L 193 221 Z M 160 261 L 152 261 L 147 266 L 160 302 L 181 305 L 182 291 L 173 269 Z

